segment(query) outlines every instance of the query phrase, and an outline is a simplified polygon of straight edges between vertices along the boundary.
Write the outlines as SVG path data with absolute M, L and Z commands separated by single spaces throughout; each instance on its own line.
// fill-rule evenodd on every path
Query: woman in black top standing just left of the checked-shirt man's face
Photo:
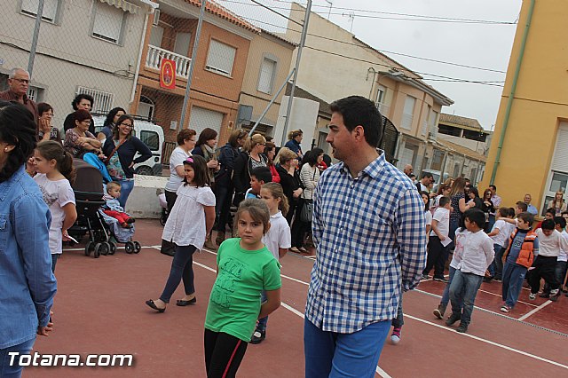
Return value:
M 290 209 L 286 214 L 288 224 L 292 224 L 292 218 L 298 204 L 298 198 L 302 195 L 303 189 L 300 181 L 300 172 L 298 172 L 297 161 L 298 155 L 287 147 L 280 148 L 278 156 L 276 156 L 276 170 L 280 175 L 280 185 L 284 194 L 288 198 Z

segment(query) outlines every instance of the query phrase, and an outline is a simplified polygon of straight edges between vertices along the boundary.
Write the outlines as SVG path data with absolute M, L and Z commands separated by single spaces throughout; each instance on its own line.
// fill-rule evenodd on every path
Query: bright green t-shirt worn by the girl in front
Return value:
M 205 327 L 250 341 L 260 313 L 262 290 L 282 286 L 280 264 L 268 248 L 248 251 L 241 238 L 225 240 L 217 251 L 217 280 L 211 289 Z

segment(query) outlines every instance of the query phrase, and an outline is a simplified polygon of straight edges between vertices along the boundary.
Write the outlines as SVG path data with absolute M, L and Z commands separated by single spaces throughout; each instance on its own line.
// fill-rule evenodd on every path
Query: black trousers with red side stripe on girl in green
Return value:
M 234 377 L 248 343 L 223 332 L 205 329 L 205 369 L 208 378 Z

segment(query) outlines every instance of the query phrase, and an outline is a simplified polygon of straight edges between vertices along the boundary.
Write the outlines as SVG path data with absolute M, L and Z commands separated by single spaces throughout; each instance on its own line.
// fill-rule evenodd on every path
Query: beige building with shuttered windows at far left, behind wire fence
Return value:
M 4 0 L 0 89 L 12 67 L 28 67 L 39 0 Z M 148 0 L 45 0 L 29 96 L 54 108 L 63 126 L 78 93 L 95 98 L 93 113 L 129 107 Z

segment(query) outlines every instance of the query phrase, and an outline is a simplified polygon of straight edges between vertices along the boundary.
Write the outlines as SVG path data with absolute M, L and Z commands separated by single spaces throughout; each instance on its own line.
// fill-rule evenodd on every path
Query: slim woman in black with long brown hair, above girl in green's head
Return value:
M 221 166 L 215 175 L 215 212 L 217 215 L 217 246 L 225 240 L 225 227 L 229 220 L 231 201 L 233 200 L 233 168 L 239 156 L 239 148 L 247 141 L 247 131 L 233 130 L 229 141 L 221 147 L 218 163 Z

